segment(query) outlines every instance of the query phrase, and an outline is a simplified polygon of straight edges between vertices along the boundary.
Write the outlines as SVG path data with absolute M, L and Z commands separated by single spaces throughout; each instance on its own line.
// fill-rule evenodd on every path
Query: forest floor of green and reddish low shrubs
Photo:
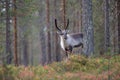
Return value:
M 120 80 L 120 55 L 72 55 L 68 61 L 45 66 L 1 65 L 0 80 Z

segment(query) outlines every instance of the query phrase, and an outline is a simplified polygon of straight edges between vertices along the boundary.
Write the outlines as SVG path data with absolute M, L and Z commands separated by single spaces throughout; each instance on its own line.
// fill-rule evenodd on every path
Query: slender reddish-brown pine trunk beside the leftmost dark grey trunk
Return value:
M 18 66 L 16 0 L 13 0 L 13 3 L 14 3 L 14 18 L 13 18 L 13 26 L 14 26 L 14 63 L 15 63 L 16 66 Z

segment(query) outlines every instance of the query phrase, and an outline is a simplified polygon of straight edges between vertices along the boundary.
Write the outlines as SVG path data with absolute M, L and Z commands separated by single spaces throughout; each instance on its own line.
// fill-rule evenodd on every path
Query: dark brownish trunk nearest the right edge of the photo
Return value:
M 110 25 L 112 25 L 112 53 L 118 53 L 118 17 L 117 17 L 117 1 L 116 0 L 112 0 L 110 2 L 110 7 L 111 5 L 113 5 L 111 7 L 111 16 L 113 17 L 113 19 L 110 22 Z M 113 14 L 113 15 L 112 15 Z

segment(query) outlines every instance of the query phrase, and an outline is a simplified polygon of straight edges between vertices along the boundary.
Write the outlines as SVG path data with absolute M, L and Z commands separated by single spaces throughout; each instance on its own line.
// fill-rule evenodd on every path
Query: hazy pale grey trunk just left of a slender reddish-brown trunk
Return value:
M 46 0 L 45 0 L 46 1 Z M 46 19 L 46 10 L 44 10 L 44 7 L 46 4 L 42 4 L 42 2 L 45 2 L 44 0 L 39 1 L 39 9 L 38 9 L 38 21 L 39 24 L 39 42 L 40 42 L 40 64 L 45 65 L 47 63 L 47 47 L 46 47 L 46 21 L 43 22 L 44 19 Z M 34 41 L 34 40 L 33 40 Z

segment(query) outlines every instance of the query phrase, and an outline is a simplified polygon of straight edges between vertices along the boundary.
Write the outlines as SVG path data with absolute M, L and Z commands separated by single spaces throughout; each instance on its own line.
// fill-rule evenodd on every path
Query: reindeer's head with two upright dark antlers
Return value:
M 67 39 L 67 34 L 68 34 L 68 25 L 69 25 L 69 19 L 67 20 L 67 25 L 65 27 L 65 29 L 61 30 L 58 26 L 57 26 L 57 19 L 55 19 L 55 27 L 57 29 L 57 33 L 58 35 L 60 35 L 61 37 L 63 37 L 64 39 Z

